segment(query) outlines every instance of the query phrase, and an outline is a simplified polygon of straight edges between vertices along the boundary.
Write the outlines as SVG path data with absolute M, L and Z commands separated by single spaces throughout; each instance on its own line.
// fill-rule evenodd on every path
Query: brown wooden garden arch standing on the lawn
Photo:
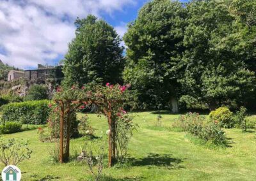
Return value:
M 108 136 L 108 166 L 111 167 L 115 163 L 116 159 L 116 119 L 112 112 L 112 103 L 118 100 L 93 100 L 93 99 L 56 99 L 55 102 L 60 105 L 60 163 L 64 163 L 69 159 L 69 148 L 70 148 L 70 115 L 79 106 L 83 105 L 84 102 L 88 104 L 95 104 L 100 108 L 100 111 L 108 119 L 109 136 Z M 102 106 L 102 104 L 106 106 Z M 76 106 L 73 106 L 76 105 Z M 65 119 L 66 118 L 66 119 Z M 67 131 L 66 137 L 64 131 Z

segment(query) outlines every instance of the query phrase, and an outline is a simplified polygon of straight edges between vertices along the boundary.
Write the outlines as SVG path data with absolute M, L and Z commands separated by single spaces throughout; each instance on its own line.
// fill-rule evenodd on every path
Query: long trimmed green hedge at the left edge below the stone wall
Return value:
M 23 103 L 10 103 L 1 107 L 2 124 L 6 122 L 21 122 L 22 124 L 46 124 L 51 108 L 49 102 L 27 101 Z

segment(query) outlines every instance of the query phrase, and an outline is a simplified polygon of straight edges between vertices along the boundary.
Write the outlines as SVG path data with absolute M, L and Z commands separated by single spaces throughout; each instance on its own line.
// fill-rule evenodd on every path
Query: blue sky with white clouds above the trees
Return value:
M 106 20 L 122 37 L 149 0 L 0 0 L 0 59 L 22 69 L 55 65 L 75 37 L 74 20 Z

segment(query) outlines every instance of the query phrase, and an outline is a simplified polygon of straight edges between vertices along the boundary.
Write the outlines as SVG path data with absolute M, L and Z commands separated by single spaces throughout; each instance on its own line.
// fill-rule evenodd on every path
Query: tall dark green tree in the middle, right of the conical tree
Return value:
M 140 108 L 166 108 L 176 98 L 179 87 L 171 69 L 184 51 L 185 18 L 182 3 L 155 0 L 129 24 L 124 80 L 132 84 Z

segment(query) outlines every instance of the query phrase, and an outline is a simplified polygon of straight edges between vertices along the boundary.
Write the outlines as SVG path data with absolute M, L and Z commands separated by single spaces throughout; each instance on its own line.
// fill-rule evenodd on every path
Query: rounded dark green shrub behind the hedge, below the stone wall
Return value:
M 43 85 L 31 85 L 28 94 L 25 96 L 25 101 L 36 101 L 48 99 L 47 88 Z

